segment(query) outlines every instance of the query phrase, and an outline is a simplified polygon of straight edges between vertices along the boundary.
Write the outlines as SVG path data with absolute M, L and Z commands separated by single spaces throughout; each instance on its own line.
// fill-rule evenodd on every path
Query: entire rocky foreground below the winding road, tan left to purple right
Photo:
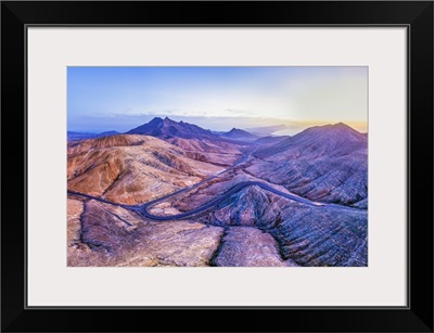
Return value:
M 308 207 L 257 188 L 184 220 L 150 221 L 74 195 L 68 209 L 69 266 L 368 265 L 366 210 Z

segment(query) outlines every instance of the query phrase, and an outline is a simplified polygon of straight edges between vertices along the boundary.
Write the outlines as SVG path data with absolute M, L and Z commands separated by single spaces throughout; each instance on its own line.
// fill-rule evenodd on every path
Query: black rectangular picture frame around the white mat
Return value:
M 25 43 L 35 24 L 407 27 L 408 306 L 28 308 Z M 432 1 L 3 1 L 1 84 L 2 332 L 433 332 Z

